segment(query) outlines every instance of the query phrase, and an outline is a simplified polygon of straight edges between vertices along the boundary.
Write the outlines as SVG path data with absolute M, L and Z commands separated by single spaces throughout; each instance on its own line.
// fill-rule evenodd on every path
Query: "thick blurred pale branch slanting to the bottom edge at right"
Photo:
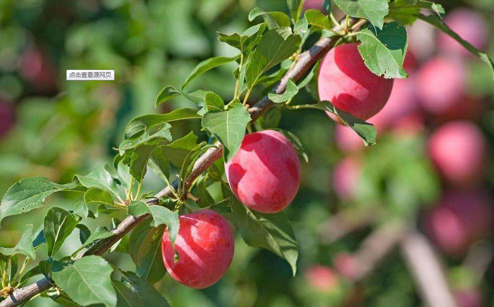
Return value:
M 427 306 L 454 307 L 441 263 L 430 242 L 419 232 L 409 232 L 401 241 L 401 251 Z

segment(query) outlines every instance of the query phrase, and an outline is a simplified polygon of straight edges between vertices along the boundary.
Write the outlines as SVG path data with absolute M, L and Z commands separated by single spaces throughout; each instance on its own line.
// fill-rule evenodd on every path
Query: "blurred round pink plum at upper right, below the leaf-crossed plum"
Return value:
M 417 74 L 416 92 L 423 108 L 440 114 L 460 101 L 465 88 L 463 63 L 456 59 L 435 57 L 425 62 Z

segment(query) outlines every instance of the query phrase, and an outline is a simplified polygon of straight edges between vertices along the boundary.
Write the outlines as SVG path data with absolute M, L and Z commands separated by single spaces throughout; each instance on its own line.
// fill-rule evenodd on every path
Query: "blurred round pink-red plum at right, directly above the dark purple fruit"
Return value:
M 486 141 L 475 124 L 458 120 L 440 126 L 430 136 L 428 150 L 432 162 L 449 182 L 470 185 L 481 179 Z

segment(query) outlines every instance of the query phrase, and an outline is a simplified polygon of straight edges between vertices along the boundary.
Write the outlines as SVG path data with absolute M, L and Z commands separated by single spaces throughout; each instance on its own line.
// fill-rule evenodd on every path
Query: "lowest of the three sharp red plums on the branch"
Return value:
M 178 262 L 174 261 L 168 230 L 163 233 L 161 254 L 173 279 L 202 289 L 216 283 L 233 258 L 234 239 L 228 222 L 212 210 L 179 216 L 180 229 L 175 239 Z

